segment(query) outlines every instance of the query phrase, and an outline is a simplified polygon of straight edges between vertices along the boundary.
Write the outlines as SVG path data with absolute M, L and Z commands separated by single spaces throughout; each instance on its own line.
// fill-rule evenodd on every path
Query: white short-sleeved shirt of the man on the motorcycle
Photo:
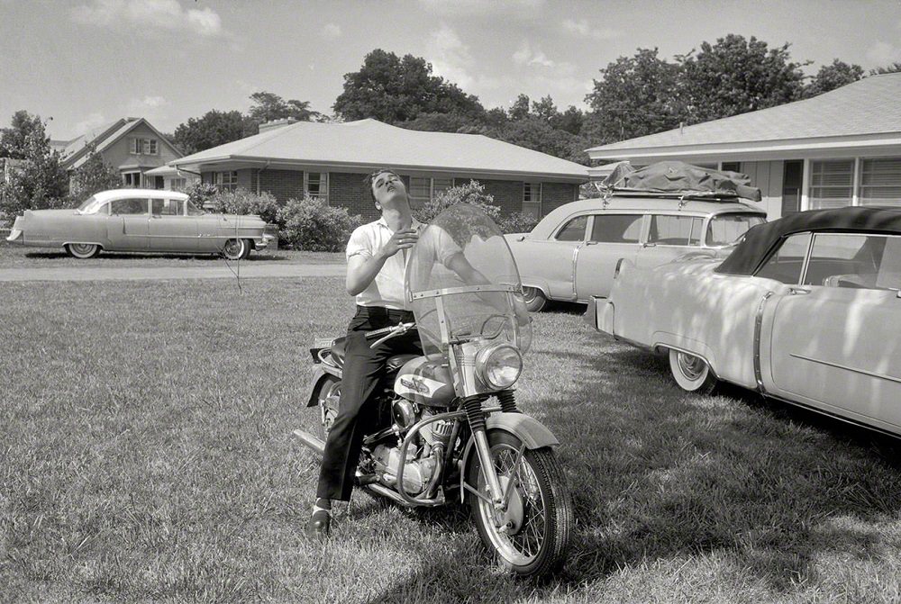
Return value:
M 420 235 L 423 234 L 425 227 L 425 224 L 413 219 L 411 228 L 417 230 Z M 375 256 L 376 252 L 383 248 L 393 235 L 394 231 L 388 227 L 384 218 L 357 227 L 350 234 L 350 240 L 347 242 L 347 259 L 350 260 L 354 256 L 364 258 Z M 460 252 L 460 248 L 456 244 L 452 244 L 452 241 L 450 246 L 442 247 L 444 249 L 437 257 L 441 264 L 446 264 L 454 254 Z M 410 309 L 404 293 L 404 272 L 411 251 L 412 248 L 402 249 L 385 261 L 372 283 L 357 294 L 357 303 L 360 306 L 384 306 L 396 310 Z

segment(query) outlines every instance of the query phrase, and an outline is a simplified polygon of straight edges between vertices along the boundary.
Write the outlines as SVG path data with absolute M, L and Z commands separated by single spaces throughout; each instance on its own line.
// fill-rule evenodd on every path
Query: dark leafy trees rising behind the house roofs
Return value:
M 344 75 L 331 115 L 315 112 L 308 101 L 260 91 L 250 95 L 247 113 L 214 109 L 166 136 L 191 154 L 252 136 L 260 124 L 273 120 L 374 118 L 411 130 L 484 134 L 588 165 L 589 147 L 766 109 L 821 95 L 867 75 L 901 71 L 901 63 L 893 63 L 865 74 L 859 65 L 834 59 L 815 75 L 805 76 L 803 68 L 809 64 L 792 59 L 788 43 L 770 47 L 753 36 L 733 33 L 672 59 L 660 57 L 656 48 L 638 49 L 599 70 L 585 97 L 587 110 L 570 105 L 561 111 L 551 95 L 534 101 L 520 94 L 510 107 L 486 108 L 477 96 L 435 75 L 425 59 L 376 49 L 364 57 L 358 71 Z M 71 175 L 70 191 L 59 155 L 49 143 L 41 118 L 26 111 L 15 113 L 11 126 L 0 131 L 0 158 L 23 160 L 12 181 L 0 185 L 5 205 L 12 195 L 19 200 L 16 206 L 51 207 L 67 195 L 91 194 L 118 183 L 114 170 L 92 154 L 85 167 Z M 10 211 L 14 208 L 5 213 Z

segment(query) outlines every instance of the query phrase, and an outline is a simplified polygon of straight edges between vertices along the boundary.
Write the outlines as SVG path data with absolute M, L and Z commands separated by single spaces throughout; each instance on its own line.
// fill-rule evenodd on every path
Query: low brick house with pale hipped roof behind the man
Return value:
M 270 122 L 259 134 L 168 162 L 224 188 L 267 191 L 284 203 L 310 194 L 375 219 L 363 179 L 395 168 L 414 207 L 477 180 L 505 213 L 543 216 L 575 201 L 587 167 L 478 134 L 411 131 L 376 120 Z

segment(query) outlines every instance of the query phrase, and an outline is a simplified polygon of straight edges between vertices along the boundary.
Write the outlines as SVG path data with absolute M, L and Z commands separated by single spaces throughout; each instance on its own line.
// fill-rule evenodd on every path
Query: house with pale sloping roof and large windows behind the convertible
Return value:
M 901 73 L 795 103 L 588 149 L 602 162 L 665 159 L 736 170 L 770 219 L 844 205 L 901 205 Z M 594 175 L 593 175 L 594 176 Z

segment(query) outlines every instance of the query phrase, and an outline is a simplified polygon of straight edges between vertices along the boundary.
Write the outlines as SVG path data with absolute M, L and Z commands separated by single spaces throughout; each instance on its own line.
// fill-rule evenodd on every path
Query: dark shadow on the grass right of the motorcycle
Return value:
M 547 410 L 545 423 L 562 444 L 576 511 L 564 571 L 543 583 L 516 581 L 489 572 L 487 553 L 480 572 L 461 572 L 463 552 L 437 553 L 370 602 L 410 601 L 426 588 L 431 601 L 491 601 L 492 593 L 541 599 L 626 567 L 686 559 L 725 560 L 715 572 L 762 581 L 768 597 L 783 599 L 816 581 L 821 556 L 864 561 L 884 545 L 860 524 L 901 509 L 896 438 L 729 384 L 717 396 L 687 394 L 672 383 L 665 358 L 632 348 L 552 356 L 595 378 L 526 409 Z M 468 543 L 481 546 L 462 509 L 420 518 L 469 531 Z M 661 572 L 668 570 L 682 572 Z

